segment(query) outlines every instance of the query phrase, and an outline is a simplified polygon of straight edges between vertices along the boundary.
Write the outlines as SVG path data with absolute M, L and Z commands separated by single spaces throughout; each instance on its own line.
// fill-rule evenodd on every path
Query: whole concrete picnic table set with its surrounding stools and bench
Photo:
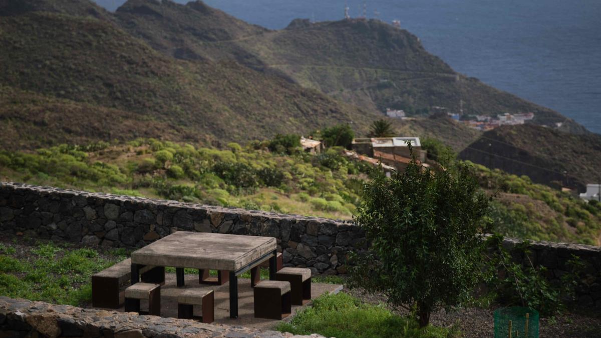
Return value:
M 184 269 L 192 268 L 198 269 L 199 284 L 230 283 L 230 318 L 238 318 L 238 277 L 250 271 L 255 318 L 282 319 L 290 315 L 291 305 L 311 299 L 311 270 L 282 268 L 282 256 L 276 248 L 272 237 L 175 232 L 134 251 L 130 259 L 94 274 L 92 304 L 109 309 L 124 305 L 126 312 L 160 316 L 165 268 L 174 267 L 176 286 L 182 289 L 177 295 L 178 318 L 213 322 L 213 290 L 184 289 Z M 260 267 L 267 262 L 269 280 L 261 281 Z M 217 276 L 210 276 L 210 270 L 216 270 Z M 141 312 L 141 300 L 148 301 L 148 312 Z M 202 316 L 194 316 L 195 307 L 201 307 Z

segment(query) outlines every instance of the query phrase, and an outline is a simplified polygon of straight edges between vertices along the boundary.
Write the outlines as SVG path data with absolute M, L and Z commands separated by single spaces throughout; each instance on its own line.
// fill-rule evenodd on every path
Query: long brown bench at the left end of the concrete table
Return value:
M 145 283 L 165 284 L 163 266 L 145 266 L 141 269 Z M 92 306 L 118 309 L 123 306 L 125 287 L 130 284 L 131 259 L 123 260 L 92 275 Z

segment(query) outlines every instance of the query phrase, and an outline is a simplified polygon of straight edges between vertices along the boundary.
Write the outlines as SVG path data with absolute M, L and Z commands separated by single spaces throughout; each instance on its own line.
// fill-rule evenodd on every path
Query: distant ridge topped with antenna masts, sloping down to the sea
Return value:
M 468 114 L 532 111 L 535 123 L 561 122 L 566 131 L 585 132 L 558 112 L 454 72 L 415 35 L 379 20 L 294 20 L 287 29 L 267 31 L 201 1 L 153 0 L 127 1 L 116 16 L 127 31 L 174 57 L 236 60 L 365 109 L 459 111 L 463 100 Z

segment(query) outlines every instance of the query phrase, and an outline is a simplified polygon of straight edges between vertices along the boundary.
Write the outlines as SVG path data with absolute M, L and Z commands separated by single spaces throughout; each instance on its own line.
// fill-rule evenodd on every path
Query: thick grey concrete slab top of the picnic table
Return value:
M 273 237 L 178 231 L 133 251 L 132 263 L 237 271 L 276 247 Z

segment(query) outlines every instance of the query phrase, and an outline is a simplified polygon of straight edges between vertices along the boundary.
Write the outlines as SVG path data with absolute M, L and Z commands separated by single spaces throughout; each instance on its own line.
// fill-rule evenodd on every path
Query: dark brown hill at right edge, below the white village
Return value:
M 532 181 L 584 191 L 599 180 L 601 135 L 573 135 L 524 124 L 484 133 L 460 158 L 499 168 Z

